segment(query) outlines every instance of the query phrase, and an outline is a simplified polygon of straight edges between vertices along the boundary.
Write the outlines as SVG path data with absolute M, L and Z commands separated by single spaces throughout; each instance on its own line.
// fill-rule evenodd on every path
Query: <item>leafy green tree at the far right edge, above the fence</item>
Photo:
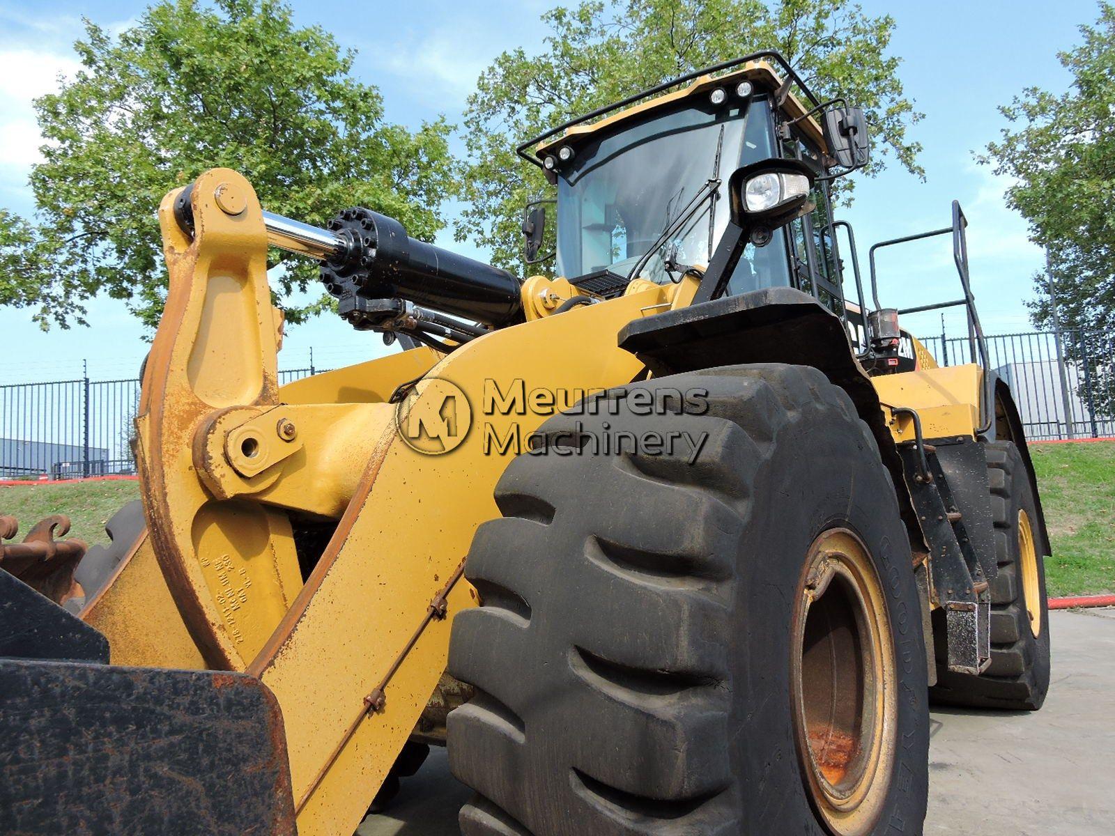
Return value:
M 1099 11 L 1058 55 L 1072 87 L 1029 87 L 1000 108 L 1010 125 L 981 158 L 1012 178 L 1007 202 L 1049 253 L 1061 324 L 1097 337 L 1115 328 L 1115 7 Z M 1048 327 L 1046 275 L 1035 282 L 1032 319 Z

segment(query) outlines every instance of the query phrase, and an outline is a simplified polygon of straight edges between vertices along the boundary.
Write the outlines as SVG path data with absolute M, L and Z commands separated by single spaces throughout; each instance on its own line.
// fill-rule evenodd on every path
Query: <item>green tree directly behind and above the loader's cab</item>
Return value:
M 539 55 L 503 52 L 481 76 L 465 113 L 468 204 L 458 240 L 492 249 L 521 269 L 523 205 L 552 196 L 514 147 L 574 116 L 687 71 L 760 49 L 777 49 L 822 98 L 844 96 L 872 124 L 875 157 L 918 176 L 921 145 L 906 129 L 921 114 L 903 96 L 899 59 L 888 54 L 894 20 L 847 0 L 586 0 L 542 16 L 551 35 Z M 879 153 L 882 152 L 882 153 Z

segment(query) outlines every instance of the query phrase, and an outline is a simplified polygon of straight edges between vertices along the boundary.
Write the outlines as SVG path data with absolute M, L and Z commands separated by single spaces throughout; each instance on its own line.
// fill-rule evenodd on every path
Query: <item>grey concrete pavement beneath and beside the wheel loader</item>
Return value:
M 1040 711 L 933 711 L 927 835 L 1115 833 L 1115 609 L 1049 620 L 1053 684 Z M 437 749 L 358 833 L 456 836 L 467 798 Z

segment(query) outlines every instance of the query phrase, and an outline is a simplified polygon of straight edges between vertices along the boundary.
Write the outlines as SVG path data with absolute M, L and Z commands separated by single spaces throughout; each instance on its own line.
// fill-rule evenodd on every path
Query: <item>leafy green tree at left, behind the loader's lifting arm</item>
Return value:
M 83 322 L 98 292 L 155 324 L 166 292 L 156 210 L 206 168 L 244 173 L 264 207 L 323 224 L 363 205 L 430 240 L 453 187 L 444 119 L 416 130 L 384 119 L 355 54 L 295 28 L 281 0 L 167 0 L 113 38 L 86 21 L 84 65 L 36 103 L 45 161 L 31 173 L 36 223 L 0 214 L 0 303 L 36 307 L 47 328 Z M 317 269 L 272 251 L 277 301 Z

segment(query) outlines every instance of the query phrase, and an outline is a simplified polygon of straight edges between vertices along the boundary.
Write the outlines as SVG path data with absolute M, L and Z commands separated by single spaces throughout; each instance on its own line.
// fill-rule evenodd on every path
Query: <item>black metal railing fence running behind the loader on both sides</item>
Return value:
M 1032 440 L 1115 436 L 1115 337 L 1077 331 L 988 337 L 990 366 L 1009 383 Z M 969 362 L 966 337 L 922 342 L 942 366 Z M 279 382 L 323 369 L 287 369 Z M 0 478 L 134 474 L 138 380 L 0 386 Z

